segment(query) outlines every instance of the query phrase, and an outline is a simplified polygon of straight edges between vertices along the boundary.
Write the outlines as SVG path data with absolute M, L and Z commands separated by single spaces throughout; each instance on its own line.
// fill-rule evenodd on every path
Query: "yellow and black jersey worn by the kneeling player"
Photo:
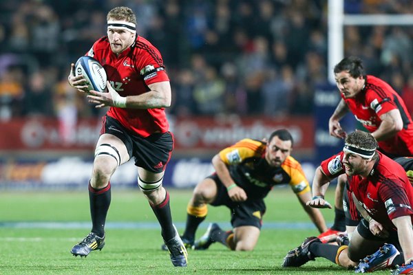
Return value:
M 220 151 L 235 183 L 248 198 L 262 199 L 275 185 L 290 184 L 296 194 L 310 191 L 301 164 L 288 156 L 281 167 L 271 167 L 265 159 L 266 142 L 244 139 Z

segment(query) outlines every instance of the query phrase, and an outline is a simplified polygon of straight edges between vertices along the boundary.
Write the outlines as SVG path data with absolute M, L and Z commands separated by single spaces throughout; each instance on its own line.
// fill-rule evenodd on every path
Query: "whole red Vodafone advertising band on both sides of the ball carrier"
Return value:
M 313 150 L 313 118 L 170 118 L 175 150 L 219 150 L 250 137 L 262 140 L 276 129 L 286 128 L 294 137 L 295 150 Z M 64 125 L 54 119 L 12 119 L 0 122 L 0 151 L 94 150 L 100 119 L 79 120 Z

